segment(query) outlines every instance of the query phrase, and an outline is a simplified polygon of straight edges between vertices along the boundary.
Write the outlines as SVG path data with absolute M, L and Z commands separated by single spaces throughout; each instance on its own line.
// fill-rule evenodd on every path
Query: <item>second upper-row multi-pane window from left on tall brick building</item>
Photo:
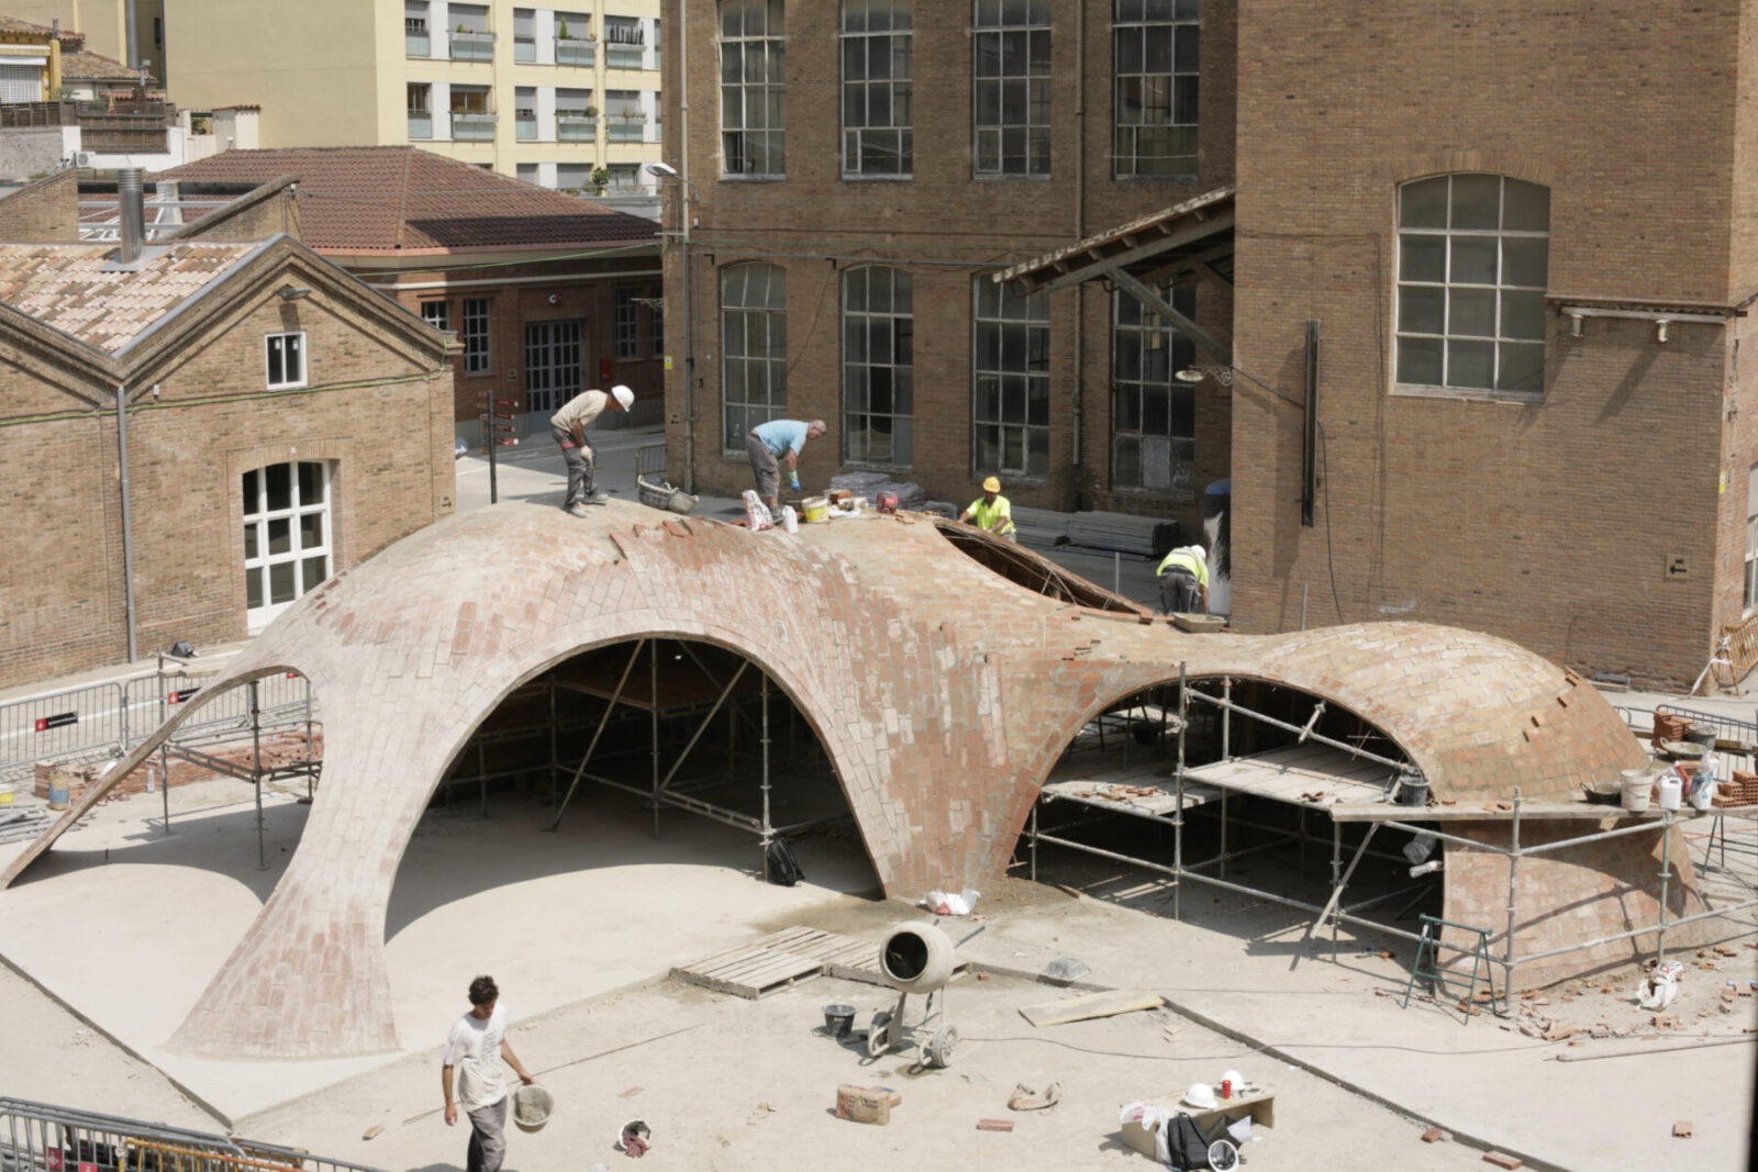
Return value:
M 842 174 L 909 176 L 911 0 L 842 0 Z

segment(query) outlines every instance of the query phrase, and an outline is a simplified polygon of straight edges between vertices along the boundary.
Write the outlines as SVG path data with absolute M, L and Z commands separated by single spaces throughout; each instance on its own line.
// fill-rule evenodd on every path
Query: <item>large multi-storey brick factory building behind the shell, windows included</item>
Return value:
M 1236 629 L 1758 661 L 1753 5 L 663 16 L 696 487 L 745 487 L 777 415 L 832 423 L 812 483 L 999 474 L 1190 531 L 1231 478 Z M 1085 272 L 1032 267 L 1081 241 Z

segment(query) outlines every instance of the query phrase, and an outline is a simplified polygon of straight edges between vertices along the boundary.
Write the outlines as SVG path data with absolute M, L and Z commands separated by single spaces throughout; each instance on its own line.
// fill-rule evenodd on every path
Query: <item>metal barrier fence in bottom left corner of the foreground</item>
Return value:
M 0 1098 L 0 1172 L 376 1172 L 230 1135 Z

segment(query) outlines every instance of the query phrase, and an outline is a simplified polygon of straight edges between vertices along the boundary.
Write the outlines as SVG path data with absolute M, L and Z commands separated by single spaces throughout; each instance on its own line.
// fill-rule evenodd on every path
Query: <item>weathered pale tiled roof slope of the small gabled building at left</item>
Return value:
M 260 244 L 148 250 L 135 272 L 105 272 L 114 244 L 0 244 L 0 302 L 118 353 Z

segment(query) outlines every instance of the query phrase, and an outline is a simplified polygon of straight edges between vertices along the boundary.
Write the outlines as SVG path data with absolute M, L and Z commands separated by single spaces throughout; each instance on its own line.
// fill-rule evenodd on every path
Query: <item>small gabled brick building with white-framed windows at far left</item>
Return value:
M 118 246 L 70 239 L 72 197 L 0 202 L 60 241 L 0 244 L 0 685 L 239 640 L 454 508 L 441 334 L 285 234 L 230 239 L 274 202 Z

